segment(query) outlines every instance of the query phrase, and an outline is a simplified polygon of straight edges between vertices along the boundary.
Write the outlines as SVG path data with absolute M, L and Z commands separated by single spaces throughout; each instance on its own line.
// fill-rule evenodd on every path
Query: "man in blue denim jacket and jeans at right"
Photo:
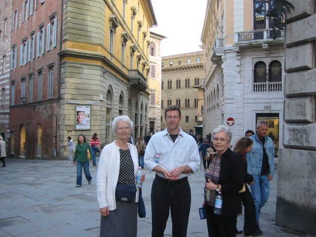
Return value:
M 267 136 L 268 125 L 265 120 L 257 123 L 256 134 L 250 137 L 253 140 L 252 151 L 246 155 L 248 173 L 254 177 L 254 184 L 250 188 L 256 206 L 257 229 L 261 233 L 259 211 L 268 201 L 269 181 L 272 180 L 275 170 L 275 148 L 272 139 Z

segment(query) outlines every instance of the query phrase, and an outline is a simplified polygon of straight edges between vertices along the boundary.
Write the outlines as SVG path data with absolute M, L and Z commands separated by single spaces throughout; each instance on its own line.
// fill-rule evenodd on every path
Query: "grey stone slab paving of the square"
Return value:
M 90 166 L 92 184 L 88 185 L 83 175 L 82 186 L 76 188 L 76 166 L 67 162 L 6 159 L 6 167 L 0 167 L 0 237 L 99 237 L 97 167 Z M 138 236 L 151 237 L 150 193 L 155 172 L 144 172 L 143 198 L 147 215 L 138 218 Z M 188 237 L 208 236 L 206 221 L 200 220 L 198 215 L 203 202 L 203 180 L 203 170 L 189 176 L 192 205 Z M 271 181 L 268 203 L 261 210 L 263 236 L 298 236 L 297 232 L 275 225 L 276 181 L 277 172 Z M 242 230 L 242 224 L 243 214 L 238 216 L 238 230 Z M 172 236 L 171 226 L 169 217 L 165 236 Z M 243 237 L 243 234 L 238 236 Z

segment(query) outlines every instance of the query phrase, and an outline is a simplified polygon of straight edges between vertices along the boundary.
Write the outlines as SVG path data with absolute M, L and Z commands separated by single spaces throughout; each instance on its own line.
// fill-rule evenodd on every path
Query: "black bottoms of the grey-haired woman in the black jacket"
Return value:
M 214 207 L 205 204 L 208 237 L 236 237 L 237 216 L 216 215 Z

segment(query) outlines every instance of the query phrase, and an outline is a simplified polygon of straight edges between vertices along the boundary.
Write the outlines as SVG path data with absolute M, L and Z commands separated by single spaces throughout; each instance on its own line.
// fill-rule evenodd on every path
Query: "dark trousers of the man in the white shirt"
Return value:
M 152 186 L 152 237 L 163 237 L 171 211 L 172 237 L 186 237 L 191 208 L 189 181 L 168 184 L 154 179 Z

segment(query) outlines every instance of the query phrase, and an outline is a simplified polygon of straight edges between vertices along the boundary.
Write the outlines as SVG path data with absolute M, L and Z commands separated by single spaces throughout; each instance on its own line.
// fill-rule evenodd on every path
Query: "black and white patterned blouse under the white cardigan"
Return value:
M 119 173 L 118 173 L 118 183 L 128 184 L 131 186 L 135 185 L 135 175 L 134 175 L 134 163 L 130 155 L 130 151 L 119 149 Z

